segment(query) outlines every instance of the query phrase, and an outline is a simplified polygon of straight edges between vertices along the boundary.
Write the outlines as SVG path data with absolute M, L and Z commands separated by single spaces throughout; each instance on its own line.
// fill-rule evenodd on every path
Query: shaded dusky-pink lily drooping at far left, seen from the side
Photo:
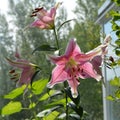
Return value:
M 12 61 L 8 58 L 6 58 L 7 62 L 13 66 L 14 68 L 18 68 L 21 70 L 20 78 L 18 80 L 18 85 L 23 85 L 26 84 L 28 85 L 31 82 L 31 79 L 33 75 L 36 72 L 36 69 L 38 68 L 37 65 L 30 63 L 27 60 L 20 59 L 20 55 L 18 51 L 15 53 L 16 60 Z M 11 74 L 13 74 L 13 78 L 16 78 L 19 76 L 18 74 L 15 73 L 15 70 L 10 71 Z

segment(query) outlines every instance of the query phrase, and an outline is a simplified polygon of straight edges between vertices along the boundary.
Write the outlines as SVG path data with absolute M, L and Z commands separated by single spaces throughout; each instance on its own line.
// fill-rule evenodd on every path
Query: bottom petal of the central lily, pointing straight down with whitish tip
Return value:
M 77 87 L 80 84 L 80 82 L 76 78 L 69 79 L 67 81 L 71 88 L 71 93 L 72 93 L 73 98 L 76 98 L 78 96 Z

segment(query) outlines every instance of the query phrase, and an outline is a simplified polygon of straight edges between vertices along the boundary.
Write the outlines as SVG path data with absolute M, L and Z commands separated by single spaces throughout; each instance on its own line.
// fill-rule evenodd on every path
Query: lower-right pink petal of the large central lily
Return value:
M 97 81 L 100 81 L 102 76 L 99 75 L 95 69 L 93 68 L 92 64 L 90 62 L 86 62 L 82 65 L 80 65 L 80 74 L 79 76 L 81 78 L 94 78 L 96 79 Z

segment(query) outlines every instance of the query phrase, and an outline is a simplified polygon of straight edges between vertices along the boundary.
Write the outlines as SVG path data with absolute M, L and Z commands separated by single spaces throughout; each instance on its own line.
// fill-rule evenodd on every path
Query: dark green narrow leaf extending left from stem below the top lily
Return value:
M 37 47 L 35 50 L 33 50 L 32 54 L 36 51 L 55 51 L 55 50 L 57 50 L 56 47 L 45 44 L 45 45 L 41 45 L 41 46 Z

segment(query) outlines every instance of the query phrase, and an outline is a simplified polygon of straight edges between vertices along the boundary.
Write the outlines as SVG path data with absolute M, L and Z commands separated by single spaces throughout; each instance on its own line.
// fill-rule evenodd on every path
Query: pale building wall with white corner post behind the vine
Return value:
M 111 44 L 114 44 L 115 40 L 117 39 L 114 32 L 112 32 L 112 24 L 110 23 L 111 18 L 106 17 L 108 12 L 112 9 L 116 9 L 114 3 L 110 0 L 106 0 L 106 2 L 101 6 L 98 10 L 98 19 L 96 21 L 97 24 L 101 25 L 101 34 L 111 34 L 112 41 Z M 101 38 L 102 42 L 103 38 Z M 108 48 L 108 54 L 106 55 L 106 60 L 112 56 L 114 59 L 117 56 L 114 53 L 114 48 L 110 45 Z M 106 87 L 103 86 L 103 108 L 104 108 L 104 120 L 120 120 L 120 103 L 113 102 L 106 99 L 108 95 L 114 93 L 115 88 L 110 86 L 109 81 L 112 80 L 115 75 L 120 76 L 120 68 L 116 68 L 115 70 L 110 69 L 107 67 L 107 64 L 104 63 L 102 72 L 104 75 L 104 81 L 106 83 Z M 115 73 L 116 72 L 116 73 Z

